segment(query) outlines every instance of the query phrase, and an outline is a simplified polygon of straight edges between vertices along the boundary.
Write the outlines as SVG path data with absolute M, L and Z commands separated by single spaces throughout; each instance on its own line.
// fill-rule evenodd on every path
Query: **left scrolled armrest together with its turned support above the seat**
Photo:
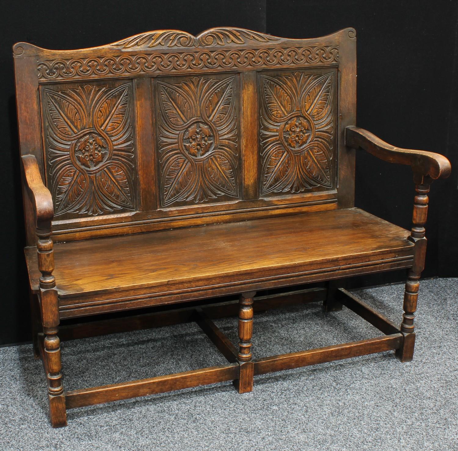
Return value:
M 22 156 L 24 178 L 27 192 L 36 217 L 38 237 L 38 269 L 41 272 L 40 288 L 43 290 L 55 287 L 53 241 L 51 239 L 54 207 L 51 193 L 43 183 L 37 159 L 33 155 Z

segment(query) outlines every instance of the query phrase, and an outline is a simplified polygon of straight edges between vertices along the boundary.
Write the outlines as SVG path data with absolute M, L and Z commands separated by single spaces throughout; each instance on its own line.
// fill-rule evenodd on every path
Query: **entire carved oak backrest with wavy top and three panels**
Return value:
M 16 44 L 21 152 L 52 193 L 53 239 L 353 206 L 355 41 L 351 28 L 303 40 L 213 28 Z

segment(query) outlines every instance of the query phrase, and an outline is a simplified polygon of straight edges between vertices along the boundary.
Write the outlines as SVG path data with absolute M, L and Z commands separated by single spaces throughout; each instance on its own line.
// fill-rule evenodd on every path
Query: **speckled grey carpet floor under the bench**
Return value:
M 398 322 L 403 285 L 358 292 Z M 0 348 L 4 450 L 458 450 L 458 279 L 421 283 L 415 358 L 392 352 L 256 376 L 251 393 L 214 384 L 68 412 L 47 419 L 41 362 L 31 345 Z M 236 342 L 236 319 L 216 321 Z M 255 316 L 256 357 L 381 333 L 353 312 L 319 304 Z M 62 345 L 65 389 L 224 364 L 195 325 Z

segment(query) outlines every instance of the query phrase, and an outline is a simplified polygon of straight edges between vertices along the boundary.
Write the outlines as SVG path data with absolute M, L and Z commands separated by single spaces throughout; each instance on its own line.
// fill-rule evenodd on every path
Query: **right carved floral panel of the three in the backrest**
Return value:
M 335 188 L 335 73 L 259 76 L 261 196 Z

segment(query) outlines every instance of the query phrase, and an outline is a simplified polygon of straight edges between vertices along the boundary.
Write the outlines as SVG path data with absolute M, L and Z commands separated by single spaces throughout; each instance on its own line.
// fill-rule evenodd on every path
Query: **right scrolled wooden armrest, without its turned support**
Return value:
M 394 147 L 354 125 L 345 128 L 345 145 L 361 148 L 389 163 L 408 164 L 414 173 L 431 179 L 446 179 L 450 175 L 450 162 L 439 153 Z

